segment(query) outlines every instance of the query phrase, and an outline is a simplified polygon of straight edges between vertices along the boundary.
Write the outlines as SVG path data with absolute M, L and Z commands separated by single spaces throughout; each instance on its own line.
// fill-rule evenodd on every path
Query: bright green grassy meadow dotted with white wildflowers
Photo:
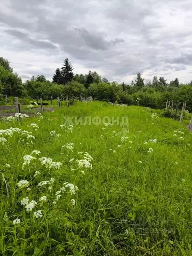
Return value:
M 192 134 L 152 113 L 91 102 L 0 122 L 21 129 L 0 130 L 1 255 L 192 255 Z M 60 127 L 75 116 L 128 117 L 129 132 Z

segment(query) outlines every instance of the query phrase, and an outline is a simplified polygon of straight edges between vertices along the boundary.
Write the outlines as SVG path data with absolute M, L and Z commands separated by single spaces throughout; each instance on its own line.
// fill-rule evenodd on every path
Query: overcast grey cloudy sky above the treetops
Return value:
M 191 0 L 1 0 L 0 56 L 24 80 L 74 73 L 110 81 L 192 80 Z

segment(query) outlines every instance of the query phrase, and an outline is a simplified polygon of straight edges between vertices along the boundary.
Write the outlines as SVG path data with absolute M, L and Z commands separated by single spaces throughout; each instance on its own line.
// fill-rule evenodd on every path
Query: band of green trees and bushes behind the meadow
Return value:
M 0 101 L 3 102 L 5 95 L 32 99 L 37 96 L 43 99 L 50 99 L 51 96 L 65 98 L 66 95 L 92 96 L 99 101 L 164 108 L 167 100 L 173 100 L 174 103 L 179 100 L 180 106 L 186 101 L 186 109 L 192 111 L 192 81 L 189 84 L 181 84 L 178 78 L 175 78 L 167 83 L 164 77 L 158 79 L 154 76 L 152 81 L 144 83 L 142 75 L 137 73 L 136 79 L 130 84 L 119 84 L 115 81 L 109 82 L 107 78 L 91 70 L 85 75 L 74 74 L 73 71 L 73 66 L 66 58 L 62 67 L 55 70 L 52 81 L 47 80 L 44 75 L 37 75 L 22 83 L 22 79 L 13 72 L 8 60 L 0 57 Z

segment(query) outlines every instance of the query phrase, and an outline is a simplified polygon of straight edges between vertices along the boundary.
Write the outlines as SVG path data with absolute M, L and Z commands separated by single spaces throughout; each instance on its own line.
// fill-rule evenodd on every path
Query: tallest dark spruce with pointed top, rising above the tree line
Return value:
M 67 84 L 71 82 L 74 78 L 73 75 L 73 67 L 71 63 L 69 62 L 68 58 L 64 60 L 64 64 L 61 68 L 61 83 L 62 84 Z

